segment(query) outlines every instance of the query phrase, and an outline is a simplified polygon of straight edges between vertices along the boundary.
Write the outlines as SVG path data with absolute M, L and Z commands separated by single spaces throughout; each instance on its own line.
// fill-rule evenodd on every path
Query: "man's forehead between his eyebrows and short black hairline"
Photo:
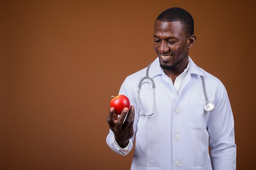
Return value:
M 174 36 L 180 37 L 185 36 L 182 30 L 182 25 L 179 21 L 176 22 L 162 22 L 157 20 L 154 27 L 154 36 Z

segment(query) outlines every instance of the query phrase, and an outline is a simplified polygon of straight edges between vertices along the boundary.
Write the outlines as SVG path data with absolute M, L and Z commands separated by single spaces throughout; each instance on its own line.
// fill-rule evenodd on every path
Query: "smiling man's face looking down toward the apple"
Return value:
M 154 27 L 154 49 L 164 70 L 173 70 L 188 63 L 189 39 L 180 22 L 161 22 Z

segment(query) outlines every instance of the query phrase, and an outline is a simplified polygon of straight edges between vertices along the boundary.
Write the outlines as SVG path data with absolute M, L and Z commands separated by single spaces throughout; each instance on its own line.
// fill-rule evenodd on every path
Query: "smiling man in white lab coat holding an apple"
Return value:
M 227 91 L 189 57 L 196 41 L 193 27 L 193 18 L 184 9 L 161 13 L 153 34 L 157 59 L 148 69 L 155 83 L 155 107 L 149 79 L 141 83 L 137 106 L 145 68 L 128 76 L 121 86 L 119 94 L 128 96 L 130 110 L 125 108 L 118 117 L 110 108 L 110 148 L 126 155 L 136 136 L 131 170 L 236 169 L 234 119 Z M 208 108 L 211 104 L 204 106 L 208 100 L 213 110 Z

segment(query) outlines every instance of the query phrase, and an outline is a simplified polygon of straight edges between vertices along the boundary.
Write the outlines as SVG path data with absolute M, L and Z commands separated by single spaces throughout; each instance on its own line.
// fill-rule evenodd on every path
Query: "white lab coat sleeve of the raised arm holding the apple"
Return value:
M 130 100 L 130 104 L 134 105 L 134 107 L 136 108 L 136 102 L 135 102 L 136 100 L 134 100 L 135 98 L 132 98 L 129 83 L 128 83 L 128 78 L 126 78 L 126 80 L 122 84 L 121 89 L 119 91 L 119 95 L 120 94 L 126 95 Z M 135 120 L 134 120 L 134 124 L 133 124 L 134 134 L 137 131 L 137 118 L 138 118 L 138 114 L 137 114 L 137 111 L 135 111 Z M 110 132 L 108 133 L 106 142 L 107 142 L 108 146 L 115 153 L 117 153 L 119 155 L 127 155 L 132 150 L 134 138 L 135 138 L 135 135 L 133 135 L 133 137 L 130 139 L 130 142 L 129 142 L 128 146 L 126 146 L 126 148 L 121 148 L 115 141 L 115 135 L 110 129 Z

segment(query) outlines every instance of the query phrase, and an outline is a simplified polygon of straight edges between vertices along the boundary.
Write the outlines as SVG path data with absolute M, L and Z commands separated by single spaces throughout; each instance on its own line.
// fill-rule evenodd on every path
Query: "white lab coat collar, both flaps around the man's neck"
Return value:
M 189 57 L 190 65 L 188 72 L 190 74 L 198 74 L 200 76 L 204 76 L 204 73 L 198 68 L 197 65 L 193 62 L 193 60 Z M 157 75 L 162 75 L 162 68 L 160 67 L 159 58 L 157 57 L 155 61 L 150 66 L 150 69 L 148 70 L 148 76 L 151 78 L 154 78 Z

